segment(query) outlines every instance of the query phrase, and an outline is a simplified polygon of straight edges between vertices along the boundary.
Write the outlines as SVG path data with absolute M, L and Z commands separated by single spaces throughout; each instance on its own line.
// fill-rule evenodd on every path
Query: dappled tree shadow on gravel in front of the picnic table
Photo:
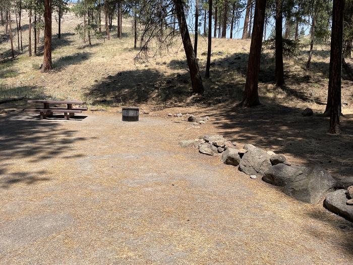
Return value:
M 14 172 L 14 163 L 37 163 L 53 156 L 63 162 L 63 159 L 68 158 L 67 152 L 73 148 L 74 142 L 86 140 L 85 137 L 75 136 L 75 130 L 59 125 L 58 122 L 39 121 L 24 114 L 0 116 L 0 159 L 9 162 L 2 165 L 1 188 L 8 189 L 16 183 L 32 185 L 48 181 L 47 177 L 42 177 L 47 169 L 27 172 L 16 166 L 18 170 Z

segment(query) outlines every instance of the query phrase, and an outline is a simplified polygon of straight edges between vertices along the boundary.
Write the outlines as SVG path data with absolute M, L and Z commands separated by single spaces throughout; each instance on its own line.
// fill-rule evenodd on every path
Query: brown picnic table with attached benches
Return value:
M 87 111 L 87 108 L 73 108 L 72 105 L 83 105 L 85 101 L 71 101 L 71 100 L 28 100 L 28 103 L 42 103 L 43 107 L 36 107 L 35 109 L 25 109 L 25 112 L 39 112 L 40 119 L 52 117 L 53 113 L 64 113 L 65 120 L 74 117 L 75 113 L 82 113 Z M 50 104 L 66 104 L 66 108 L 50 107 Z

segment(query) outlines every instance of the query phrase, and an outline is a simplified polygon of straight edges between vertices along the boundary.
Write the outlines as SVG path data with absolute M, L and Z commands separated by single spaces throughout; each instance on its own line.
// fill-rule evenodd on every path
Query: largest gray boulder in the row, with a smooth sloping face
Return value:
M 316 203 L 333 191 L 336 181 L 319 166 L 308 167 L 303 174 L 293 176 L 284 186 L 284 193 L 298 200 Z

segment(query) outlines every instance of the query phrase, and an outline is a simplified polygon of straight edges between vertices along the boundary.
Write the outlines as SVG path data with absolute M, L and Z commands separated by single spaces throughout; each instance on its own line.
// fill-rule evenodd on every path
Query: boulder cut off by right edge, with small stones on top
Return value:
M 327 194 L 324 206 L 332 213 L 353 222 L 353 207 L 347 205 L 347 196 L 344 189 L 339 189 Z

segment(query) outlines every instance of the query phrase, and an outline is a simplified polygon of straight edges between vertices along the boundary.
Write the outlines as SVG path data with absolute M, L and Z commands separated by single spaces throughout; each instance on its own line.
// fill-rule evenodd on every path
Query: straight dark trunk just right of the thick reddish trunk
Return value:
M 275 43 L 275 81 L 276 86 L 282 86 L 283 77 L 283 41 L 282 41 L 282 10 L 283 0 L 276 0 L 276 43 Z

